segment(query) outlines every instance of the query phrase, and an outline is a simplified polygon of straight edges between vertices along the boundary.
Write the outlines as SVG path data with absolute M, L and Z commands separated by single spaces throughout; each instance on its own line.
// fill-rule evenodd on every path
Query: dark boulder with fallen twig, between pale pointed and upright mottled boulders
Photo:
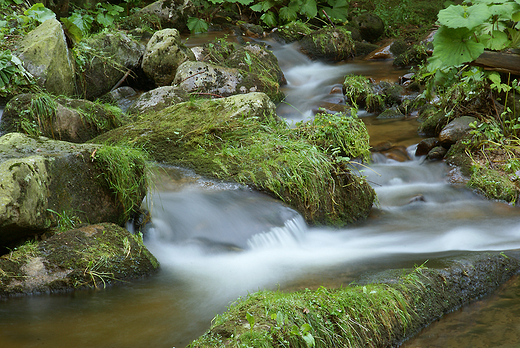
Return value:
M 124 32 L 101 32 L 85 40 L 77 85 L 82 98 L 94 100 L 112 90 L 125 74 L 140 68 L 145 46 Z

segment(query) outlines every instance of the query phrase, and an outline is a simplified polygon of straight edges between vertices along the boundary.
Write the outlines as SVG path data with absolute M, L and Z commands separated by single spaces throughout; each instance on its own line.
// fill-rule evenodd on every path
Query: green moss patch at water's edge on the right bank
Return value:
M 494 169 L 475 165 L 468 186 L 490 199 L 512 204 L 518 200 L 519 189 L 516 185 L 507 176 Z

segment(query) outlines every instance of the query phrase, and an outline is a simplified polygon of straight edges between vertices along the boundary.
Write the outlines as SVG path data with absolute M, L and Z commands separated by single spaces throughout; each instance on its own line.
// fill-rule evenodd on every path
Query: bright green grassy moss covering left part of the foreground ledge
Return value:
M 386 284 L 260 291 L 218 315 L 189 347 L 379 347 L 397 328 L 406 330 L 409 301 Z

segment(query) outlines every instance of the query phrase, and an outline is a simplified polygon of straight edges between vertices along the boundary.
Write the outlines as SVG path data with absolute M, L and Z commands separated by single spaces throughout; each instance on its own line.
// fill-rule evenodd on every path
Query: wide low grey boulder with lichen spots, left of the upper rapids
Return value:
M 228 97 L 263 92 L 272 100 L 283 99 L 280 85 L 255 73 L 204 62 L 185 62 L 177 69 L 173 84 L 188 93 Z

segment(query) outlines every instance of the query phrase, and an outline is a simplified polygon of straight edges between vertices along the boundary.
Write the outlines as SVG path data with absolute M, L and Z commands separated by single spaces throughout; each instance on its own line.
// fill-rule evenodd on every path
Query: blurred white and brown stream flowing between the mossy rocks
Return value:
M 274 44 L 273 44 L 274 45 Z M 395 82 L 391 61 L 313 62 L 293 46 L 274 51 L 289 84 L 278 112 L 289 122 L 312 117 L 343 76 Z M 0 302 L 0 347 L 184 347 L 240 296 L 348 285 L 361 273 L 435 266 L 435 258 L 520 248 L 520 210 L 447 183 L 443 162 L 413 155 L 413 118 L 359 114 L 371 144 L 390 141 L 410 154 L 375 155 L 365 168 L 378 204 L 365 222 L 342 229 L 307 226 L 291 208 L 247 187 L 166 167 L 149 197 L 146 245 L 158 274 L 106 289 L 40 294 Z M 420 197 L 420 199 L 416 199 Z M 518 347 L 520 280 L 447 315 L 404 347 Z

